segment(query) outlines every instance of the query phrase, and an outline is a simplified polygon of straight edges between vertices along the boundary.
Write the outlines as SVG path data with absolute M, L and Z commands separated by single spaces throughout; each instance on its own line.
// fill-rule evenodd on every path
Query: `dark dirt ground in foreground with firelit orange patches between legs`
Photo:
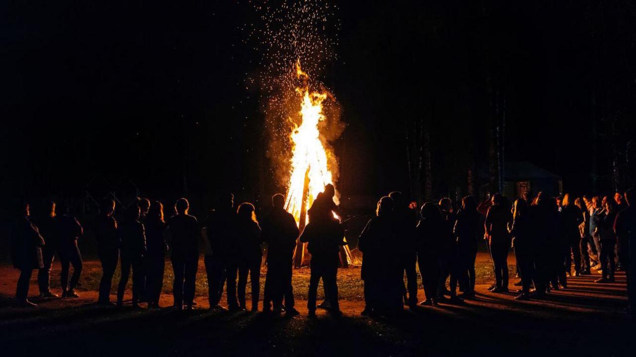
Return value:
M 625 313 L 624 274 L 618 274 L 616 283 L 602 285 L 593 282 L 598 274 L 569 278 L 565 290 L 553 290 L 542 300 L 520 302 L 513 299 L 515 293 L 487 291 L 492 280 L 489 264 L 488 256 L 480 253 L 476 299 L 462 305 L 405 309 L 402 316 L 392 319 L 360 316 L 364 304 L 359 269 L 341 269 L 338 278 L 344 316 L 334 319 L 319 310 L 316 320 L 307 318 L 307 302 L 303 300 L 308 269 L 294 270 L 294 295 L 301 316 L 288 319 L 263 313 L 210 312 L 204 297 L 207 286 L 202 264 L 195 311 L 96 306 L 100 271 L 95 261 L 85 262 L 78 299 L 34 298 L 39 306 L 25 309 L 13 305 L 18 271 L 2 265 L 0 351 L 7 352 L 2 354 L 5 356 L 634 355 L 636 325 Z M 509 264 L 513 271 L 514 261 Z M 53 290 L 59 292 L 57 262 L 53 269 Z M 171 287 L 170 270 L 167 264 L 165 292 Z M 511 283 L 516 281 L 511 279 Z M 34 277 L 30 295 L 37 293 Z M 422 290 L 419 297 L 424 297 Z M 130 299 L 130 283 L 126 299 Z M 172 295 L 163 293 L 162 305 L 172 305 Z

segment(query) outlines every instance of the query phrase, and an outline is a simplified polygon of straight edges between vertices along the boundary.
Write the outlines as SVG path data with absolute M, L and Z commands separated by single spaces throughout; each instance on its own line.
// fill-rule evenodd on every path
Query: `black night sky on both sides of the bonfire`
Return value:
M 467 166 L 488 168 L 494 88 L 505 92 L 506 160 L 535 163 L 581 194 L 611 191 L 618 158 L 620 185 L 631 184 L 630 2 L 338 6 L 339 58 L 321 76 L 347 123 L 332 143 L 343 194 L 408 192 L 406 126 L 420 118 L 432 196 L 466 192 Z M 258 89 L 246 84 L 259 56 L 241 30 L 254 20 L 247 2 L 61 0 L 1 11 L 4 196 L 81 196 L 100 185 L 95 177 L 166 201 L 282 190 Z

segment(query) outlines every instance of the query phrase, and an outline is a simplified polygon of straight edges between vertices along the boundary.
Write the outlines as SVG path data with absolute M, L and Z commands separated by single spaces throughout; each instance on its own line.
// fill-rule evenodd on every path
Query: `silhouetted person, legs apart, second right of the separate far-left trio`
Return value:
M 146 254 L 146 232 L 139 222 L 139 207 L 132 206 L 119 231 L 121 234 L 121 278 L 117 288 L 117 307 L 123 304 L 123 293 L 128 284 L 132 268 L 132 307 L 139 308 L 139 298 L 143 286 L 144 254 Z

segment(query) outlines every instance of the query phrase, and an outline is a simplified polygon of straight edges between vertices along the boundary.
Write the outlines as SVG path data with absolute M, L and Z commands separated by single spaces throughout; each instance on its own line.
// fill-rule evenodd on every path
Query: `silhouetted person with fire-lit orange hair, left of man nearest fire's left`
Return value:
M 251 203 L 241 203 L 237 209 L 236 238 L 239 245 L 239 256 L 237 265 L 228 271 L 228 281 L 236 280 L 237 270 L 239 273 L 239 309 L 247 309 L 245 305 L 245 286 L 247 286 L 247 275 L 249 274 L 252 283 L 252 311 L 258 311 L 258 297 L 260 293 L 261 262 L 263 252 L 261 244 L 261 227 L 256 221 L 254 205 Z M 228 294 L 231 293 L 228 290 Z

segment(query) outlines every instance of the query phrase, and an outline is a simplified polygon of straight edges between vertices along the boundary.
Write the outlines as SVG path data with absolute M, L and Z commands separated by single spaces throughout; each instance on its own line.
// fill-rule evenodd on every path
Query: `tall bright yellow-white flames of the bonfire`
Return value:
M 308 86 L 307 73 L 296 62 L 296 77 L 303 79 L 304 85 L 296 88 L 300 98 L 300 126 L 296 125 L 290 138 L 292 143 L 291 177 L 285 208 L 291 213 L 296 222 L 300 221 L 300 211 L 303 199 L 306 200 L 307 210 L 314 198 L 322 192 L 326 184 L 333 184 L 331 171 L 328 168 L 327 152 L 320 140 L 318 125 L 325 119 L 322 113 L 322 102 L 328 97 L 326 91 L 311 91 Z M 308 197 L 303 198 L 305 173 L 308 172 Z M 305 222 L 307 223 L 307 222 Z

